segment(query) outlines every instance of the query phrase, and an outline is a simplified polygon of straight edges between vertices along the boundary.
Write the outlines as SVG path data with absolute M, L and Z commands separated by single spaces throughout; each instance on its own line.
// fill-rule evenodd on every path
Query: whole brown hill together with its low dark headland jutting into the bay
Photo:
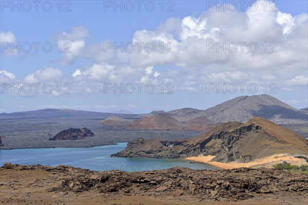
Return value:
M 216 126 L 208 133 L 187 140 L 139 138 L 114 156 L 180 158 L 216 156 L 220 162 L 248 162 L 279 153 L 308 155 L 308 140 L 261 117 L 245 124 L 232 121 Z

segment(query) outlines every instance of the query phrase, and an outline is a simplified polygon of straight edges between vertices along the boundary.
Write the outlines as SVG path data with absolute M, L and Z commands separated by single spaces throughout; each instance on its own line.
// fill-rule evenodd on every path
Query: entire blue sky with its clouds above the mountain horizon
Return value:
M 17 7 L 1 1 L 0 112 L 207 109 L 254 94 L 307 107 L 307 1 L 247 1 L 242 11 L 239 1 L 225 2 L 224 11 L 217 6 L 223 1 L 142 1 L 138 11 L 136 1 L 117 1 L 121 11 L 114 1 L 40 1 L 36 12 L 31 1 L 31 9 L 27 1 L 14 1 Z M 136 42 L 155 45 L 155 50 L 142 45 L 138 52 Z M 107 48 L 121 43 L 124 52 Z M 134 45 L 133 52 L 124 48 L 127 43 Z M 217 50 L 217 43 L 225 43 L 226 52 Z M 11 44 L 17 48 L 7 47 Z M 52 46 L 50 52 L 43 44 Z M 257 45 L 256 52 L 248 44 Z M 232 52 L 234 45 L 238 49 Z M 122 84 L 123 93 L 113 90 Z M 18 86 L 20 93 L 13 89 Z

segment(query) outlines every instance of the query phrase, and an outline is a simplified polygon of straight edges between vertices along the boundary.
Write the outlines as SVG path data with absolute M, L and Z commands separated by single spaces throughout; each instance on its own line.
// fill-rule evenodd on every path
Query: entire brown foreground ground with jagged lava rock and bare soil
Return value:
M 1 204 L 307 204 L 308 175 L 275 169 L 95 172 L 0 168 Z

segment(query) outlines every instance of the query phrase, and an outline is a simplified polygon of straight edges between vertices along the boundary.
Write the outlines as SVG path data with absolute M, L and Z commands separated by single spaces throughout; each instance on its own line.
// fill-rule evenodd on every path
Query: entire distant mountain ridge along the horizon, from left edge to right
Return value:
M 114 114 L 89 112 L 70 109 L 43 109 L 36 111 L 1 113 L 0 118 L 48 118 L 48 117 L 76 117 L 87 116 L 89 118 L 105 119 L 110 116 L 118 116 L 129 119 L 140 119 L 142 117 L 151 117 L 155 114 L 167 113 L 180 122 L 204 116 L 213 121 L 214 124 L 220 124 L 228 121 L 247 122 L 254 116 L 260 116 L 271 120 L 277 124 L 304 124 L 308 122 L 307 109 L 296 109 L 283 103 L 283 101 L 270 95 L 240 96 L 225 101 L 215 107 L 207 110 L 194 108 L 182 108 L 177 110 L 152 111 L 146 114 Z

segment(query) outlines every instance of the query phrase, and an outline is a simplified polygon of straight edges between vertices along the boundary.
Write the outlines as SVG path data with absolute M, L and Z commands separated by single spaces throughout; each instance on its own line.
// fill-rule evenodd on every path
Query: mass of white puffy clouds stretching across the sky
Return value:
M 256 84 L 260 89 L 266 83 L 275 84 L 280 92 L 307 93 L 308 14 L 293 16 L 277 8 L 264 11 L 264 3 L 267 8 L 271 5 L 256 1 L 254 11 L 210 8 L 198 16 L 170 17 L 155 30 L 135 31 L 126 42 L 93 43 L 91 30 L 74 24 L 54 39 L 62 45 L 61 56 L 49 60 L 59 66 L 42 66 L 19 77 L 1 67 L 1 83 L 69 84 L 72 94 L 104 93 L 105 83 L 164 84 L 191 93 L 203 92 L 208 84 Z M 10 30 L 0 35 L 2 43 L 18 41 Z M 2 52 L 4 59 L 25 54 L 9 51 Z M 66 66 L 74 69 L 67 72 Z M 18 95 L 29 97 L 23 92 Z M 298 97 L 286 99 L 307 100 Z

